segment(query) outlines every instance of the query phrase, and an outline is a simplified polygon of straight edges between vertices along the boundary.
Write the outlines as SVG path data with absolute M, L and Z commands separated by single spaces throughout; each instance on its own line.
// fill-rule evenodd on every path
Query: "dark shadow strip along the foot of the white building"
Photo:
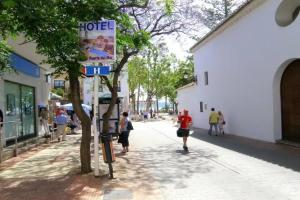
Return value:
M 191 137 L 276 165 L 300 171 L 300 149 L 234 135 L 209 136 L 205 129 L 194 129 Z

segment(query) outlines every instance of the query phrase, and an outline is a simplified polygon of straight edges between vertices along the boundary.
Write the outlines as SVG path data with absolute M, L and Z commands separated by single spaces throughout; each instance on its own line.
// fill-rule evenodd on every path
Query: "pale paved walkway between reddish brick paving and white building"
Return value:
M 130 136 L 163 199 L 299 199 L 299 149 L 196 130 L 184 154 L 175 132 L 138 123 Z

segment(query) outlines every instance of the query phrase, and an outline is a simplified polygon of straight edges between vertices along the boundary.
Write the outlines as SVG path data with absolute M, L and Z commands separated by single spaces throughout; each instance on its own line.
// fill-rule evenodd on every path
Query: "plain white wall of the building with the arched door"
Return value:
M 198 83 L 179 89 L 178 103 L 190 110 L 195 127 L 208 129 L 214 107 L 223 111 L 227 133 L 269 142 L 282 138 L 280 81 L 288 64 L 300 58 L 300 16 L 279 26 L 281 2 L 248 2 L 192 47 Z

